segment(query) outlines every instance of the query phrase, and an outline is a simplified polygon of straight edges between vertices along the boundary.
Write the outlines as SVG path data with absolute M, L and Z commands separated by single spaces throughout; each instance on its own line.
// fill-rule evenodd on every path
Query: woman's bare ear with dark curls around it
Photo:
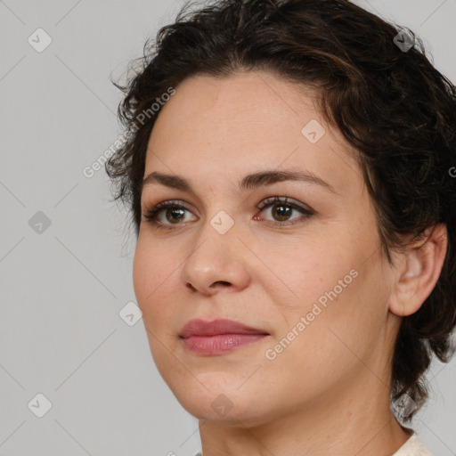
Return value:
M 407 316 L 419 310 L 436 286 L 447 245 L 446 225 L 436 224 L 396 254 L 399 258 L 389 302 L 393 314 Z

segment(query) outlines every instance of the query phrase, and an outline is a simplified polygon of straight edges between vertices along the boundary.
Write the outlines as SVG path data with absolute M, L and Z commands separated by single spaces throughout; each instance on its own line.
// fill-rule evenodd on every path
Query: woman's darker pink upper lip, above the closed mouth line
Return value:
M 265 330 L 251 328 L 240 322 L 227 319 L 217 319 L 212 321 L 206 320 L 191 320 L 183 326 L 179 333 L 181 338 L 189 338 L 191 336 L 216 336 L 219 334 L 265 334 Z

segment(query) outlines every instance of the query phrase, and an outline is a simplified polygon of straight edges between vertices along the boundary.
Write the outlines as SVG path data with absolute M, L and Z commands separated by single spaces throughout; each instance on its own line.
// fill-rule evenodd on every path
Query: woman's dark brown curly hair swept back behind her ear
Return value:
M 174 24 L 146 41 L 126 84 L 113 81 L 125 94 L 118 116 L 126 127 L 105 164 L 114 199 L 131 210 L 137 236 L 146 149 L 159 115 L 150 115 L 151 104 L 162 94 L 192 75 L 261 69 L 316 89 L 323 117 L 353 146 L 390 264 L 390 249 L 437 223 L 447 227 L 436 287 L 403 317 L 395 341 L 391 401 L 406 394 L 416 403 L 403 417 L 409 421 L 428 398 L 432 354 L 449 361 L 456 324 L 456 87 L 409 28 L 348 0 L 215 0 L 194 11 L 185 4 Z

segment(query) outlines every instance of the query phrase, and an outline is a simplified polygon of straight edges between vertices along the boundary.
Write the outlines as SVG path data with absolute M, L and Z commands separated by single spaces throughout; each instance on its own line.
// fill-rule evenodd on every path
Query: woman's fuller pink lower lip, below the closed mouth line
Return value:
M 266 334 L 218 334 L 216 336 L 191 336 L 183 344 L 195 354 L 224 354 L 265 338 Z

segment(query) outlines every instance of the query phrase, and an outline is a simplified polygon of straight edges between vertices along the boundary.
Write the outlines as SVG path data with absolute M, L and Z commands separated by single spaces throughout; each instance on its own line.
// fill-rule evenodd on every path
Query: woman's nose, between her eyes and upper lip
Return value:
M 221 290 L 240 291 L 250 282 L 246 251 L 234 227 L 224 234 L 208 223 L 181 269 L 184 286 L 192 292 L 211 296 Z

